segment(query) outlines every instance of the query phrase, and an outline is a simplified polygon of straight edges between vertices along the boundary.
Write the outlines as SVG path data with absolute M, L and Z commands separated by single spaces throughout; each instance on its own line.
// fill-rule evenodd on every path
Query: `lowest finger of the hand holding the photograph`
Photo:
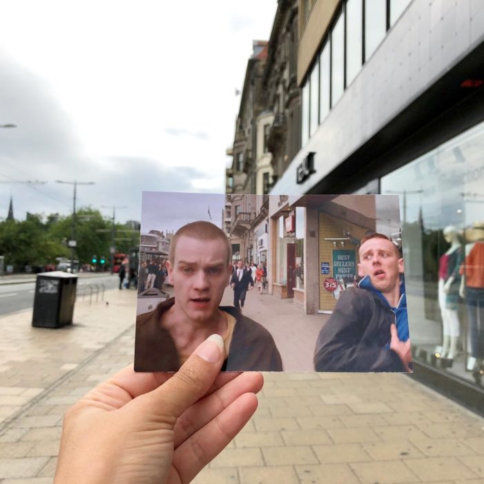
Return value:
M 202 468 L 244 427 L 257 409 L 257 397 L 244 393 L 229 405 L 220 415 L 197 431 L 175 450 L 173 466 L 183 483 L 190 482 Z

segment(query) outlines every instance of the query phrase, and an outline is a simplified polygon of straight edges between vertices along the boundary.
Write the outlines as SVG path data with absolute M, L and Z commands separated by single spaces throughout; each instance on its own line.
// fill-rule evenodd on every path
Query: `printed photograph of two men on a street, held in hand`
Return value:
M 143 192 L 135 371 L 412 371 L 396 195 Z

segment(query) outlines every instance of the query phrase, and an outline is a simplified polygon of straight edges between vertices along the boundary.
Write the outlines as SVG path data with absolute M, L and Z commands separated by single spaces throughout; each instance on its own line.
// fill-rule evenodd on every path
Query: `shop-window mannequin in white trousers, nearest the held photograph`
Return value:
M 453 225 L 445 227 L 443 234 L 445 241 L 450 244 L 450 248 L 441 257 L 438 269 L 438 305 L 441 308 L 443 323 L 443 342 L 440 356 L 447 358 L 447 360 L 453 360 L 456 355 L 461 327 L 458 320 L 457 302 L 459 282 L 461 281 L 459 268 L 463 256 L 456 227 Z

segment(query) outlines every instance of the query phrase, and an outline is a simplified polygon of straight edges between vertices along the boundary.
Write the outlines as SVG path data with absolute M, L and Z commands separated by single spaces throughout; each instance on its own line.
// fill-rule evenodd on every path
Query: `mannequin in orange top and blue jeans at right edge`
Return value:
M 484 372 L 484 223 L 466 231 L 465 262 L 461 267 L 461 288 L 465 298 L 472 360 L 467 369 Z

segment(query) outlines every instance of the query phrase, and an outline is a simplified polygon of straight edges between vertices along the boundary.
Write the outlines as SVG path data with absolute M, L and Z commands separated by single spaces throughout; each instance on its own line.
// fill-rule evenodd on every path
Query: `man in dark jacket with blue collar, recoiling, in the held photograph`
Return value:
M 383 234 L 360 242 L 358 287 L 343 291 L 318 336 L 316 371 L 412 371 L 403 259 Z

